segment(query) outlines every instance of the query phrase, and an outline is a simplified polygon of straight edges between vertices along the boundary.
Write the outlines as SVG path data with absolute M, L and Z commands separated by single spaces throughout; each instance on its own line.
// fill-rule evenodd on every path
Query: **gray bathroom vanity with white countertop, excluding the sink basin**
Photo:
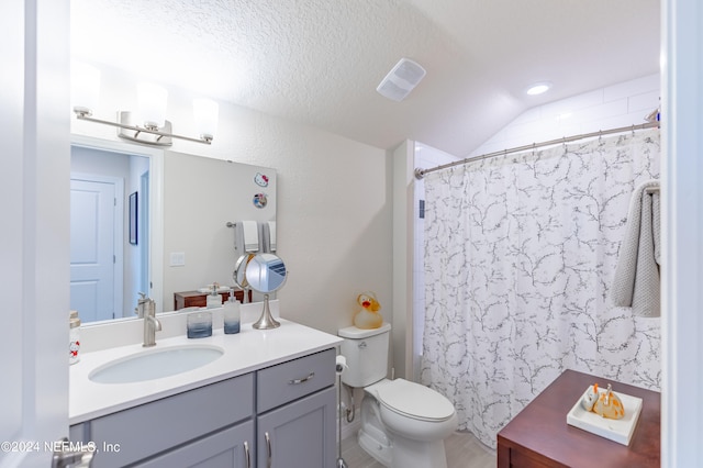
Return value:
M 208 365 L 159 379 L 90 379 L 103 363 L 144 353 L 141 345 L 83 355 L 71 366 L 71 443 L 94 445 L 98 468 L 333 466 L 341 339 L 280 322 L 276 330 L 246 324 L 236 335 L 157 339 L 161 349 L 196 342 L 223 350 Z

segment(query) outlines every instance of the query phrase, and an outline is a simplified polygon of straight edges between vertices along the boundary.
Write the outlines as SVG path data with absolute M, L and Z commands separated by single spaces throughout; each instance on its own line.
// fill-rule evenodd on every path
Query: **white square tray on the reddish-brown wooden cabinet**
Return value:
M 590 387 L 585 389 L 571 411 L 567 414 L 567 424 L 617 442 L 618 444 L 629 445 L 633 434 L 635 433 L 635 426 L 639 420 L 639 413 L 641 412 L 641 398 L 613 392 L 620 397 L 623 402 L 623 408 L 625 409 L 625 415 L 622 419 L 613 420 L 600 416 L 592 411 L 587 411 L 581 405 L 581 400 L 590 389 Z M 605 389 L 599 389 L 599 392 L 603 393 Z

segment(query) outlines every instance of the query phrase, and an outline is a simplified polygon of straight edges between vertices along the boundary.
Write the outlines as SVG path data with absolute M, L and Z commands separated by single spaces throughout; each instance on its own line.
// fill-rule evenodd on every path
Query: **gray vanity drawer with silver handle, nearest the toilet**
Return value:
M 256 372 L 258 413 L 334 385 L 334 348 L 304 356 Z

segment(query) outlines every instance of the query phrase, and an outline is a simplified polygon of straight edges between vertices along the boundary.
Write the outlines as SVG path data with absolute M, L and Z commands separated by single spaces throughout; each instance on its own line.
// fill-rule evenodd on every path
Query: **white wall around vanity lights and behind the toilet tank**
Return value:
M 100 119 L 135 109 L 138 77 L 102 69 Z M 196 136 L 187 91 L 169 89 L 174 133 Z M 115 130 L 71 121 L 76 134 L 116 141 Z M 352 324 L 358 293 L 378 294 L 392 319 L 392 160 L 386 151 L 317 129 L 220 103 L 212 146 L 175 140 L 172 151 L 267 166 L 278 174 L 278 253 L 290 270 L 281 316 L 335 333 Z

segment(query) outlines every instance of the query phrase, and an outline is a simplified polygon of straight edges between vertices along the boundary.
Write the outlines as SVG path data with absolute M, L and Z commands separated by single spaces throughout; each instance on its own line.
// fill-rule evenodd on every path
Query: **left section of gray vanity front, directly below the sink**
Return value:
M 81 438 L 98 448 L 96 468 L 246 467 L 253 417 L 254 376 L 248 374 L 97 417 L 81 425 Z M 238 459 L 221 465 L 213 464 L 213 456 Z

